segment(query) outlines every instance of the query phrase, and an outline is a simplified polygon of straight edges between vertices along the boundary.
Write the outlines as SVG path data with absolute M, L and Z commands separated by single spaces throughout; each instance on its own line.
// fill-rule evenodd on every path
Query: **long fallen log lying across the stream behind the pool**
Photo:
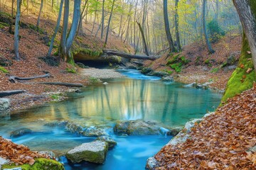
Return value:
M 103 50 L 103 54 L 108 56 L 117 55 L 119 57 L 124 57 L 129 59 L 139 59 L 139 60 L 156 60 L 159 58 L 159 56 L 131 55 L 125 52 L 118 52 L 114 50 Z

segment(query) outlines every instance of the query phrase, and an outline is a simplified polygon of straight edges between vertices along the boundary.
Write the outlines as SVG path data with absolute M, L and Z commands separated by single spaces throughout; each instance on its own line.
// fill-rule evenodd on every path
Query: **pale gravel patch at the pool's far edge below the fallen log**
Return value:
M 98 79 L 110 79 L 110 78 L 120 78 L 124 77 L 124 75 L 119 72 L 114 71 L 114 69 L 82 69 L 81 73 L 85 76 L 95 77 Z

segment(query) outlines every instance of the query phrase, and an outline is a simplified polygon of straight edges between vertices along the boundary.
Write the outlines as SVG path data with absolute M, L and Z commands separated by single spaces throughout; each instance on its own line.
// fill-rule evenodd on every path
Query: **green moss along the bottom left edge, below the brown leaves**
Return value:
M 8 165 L 5 164 L 2 166 L 2 169 L 13 169 L 16 167 L 21 167 L 22 170 L 63 170 L 64 166 L 63 164 L 60 164 L 60 162 L 54 161 L 52 159 L 45 159 L 45 158 L 38 158 L 35 159 L 36 162 L 31 166 L 29 164 L 23 164 L 20 166 L 16 166 L 15 164 L 13 165 Z

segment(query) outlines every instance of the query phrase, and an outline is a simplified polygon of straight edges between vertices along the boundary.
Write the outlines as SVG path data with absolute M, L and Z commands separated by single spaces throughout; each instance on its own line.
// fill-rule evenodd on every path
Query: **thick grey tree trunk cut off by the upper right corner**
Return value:
M 256 72 L 256 1 L 255 0 L 233 0 L 238 11 L 242 28 L 250 45 L 252 61 Z

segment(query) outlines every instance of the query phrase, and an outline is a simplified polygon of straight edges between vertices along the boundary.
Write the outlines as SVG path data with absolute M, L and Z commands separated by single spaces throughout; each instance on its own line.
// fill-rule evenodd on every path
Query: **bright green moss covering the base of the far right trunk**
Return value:
M 232 98 L 236 94 L 240 94 L 242 91 L 251 89 L 253 81 L 256 81 L 256 74 L 254 70 L 250 72 L 250 74 L 246 73 L 247 69 L 253 68 L 253 63 L 251 60 L 252 55 L 248 55 L 247 51 L 250 51 L 250 47 L 244 35 L 242 40 L 242 52 L 238 67 L 235 69 L 230 79 L 228 80 L 228 85 L 222 101 L 227 101 L 228 98 Z

